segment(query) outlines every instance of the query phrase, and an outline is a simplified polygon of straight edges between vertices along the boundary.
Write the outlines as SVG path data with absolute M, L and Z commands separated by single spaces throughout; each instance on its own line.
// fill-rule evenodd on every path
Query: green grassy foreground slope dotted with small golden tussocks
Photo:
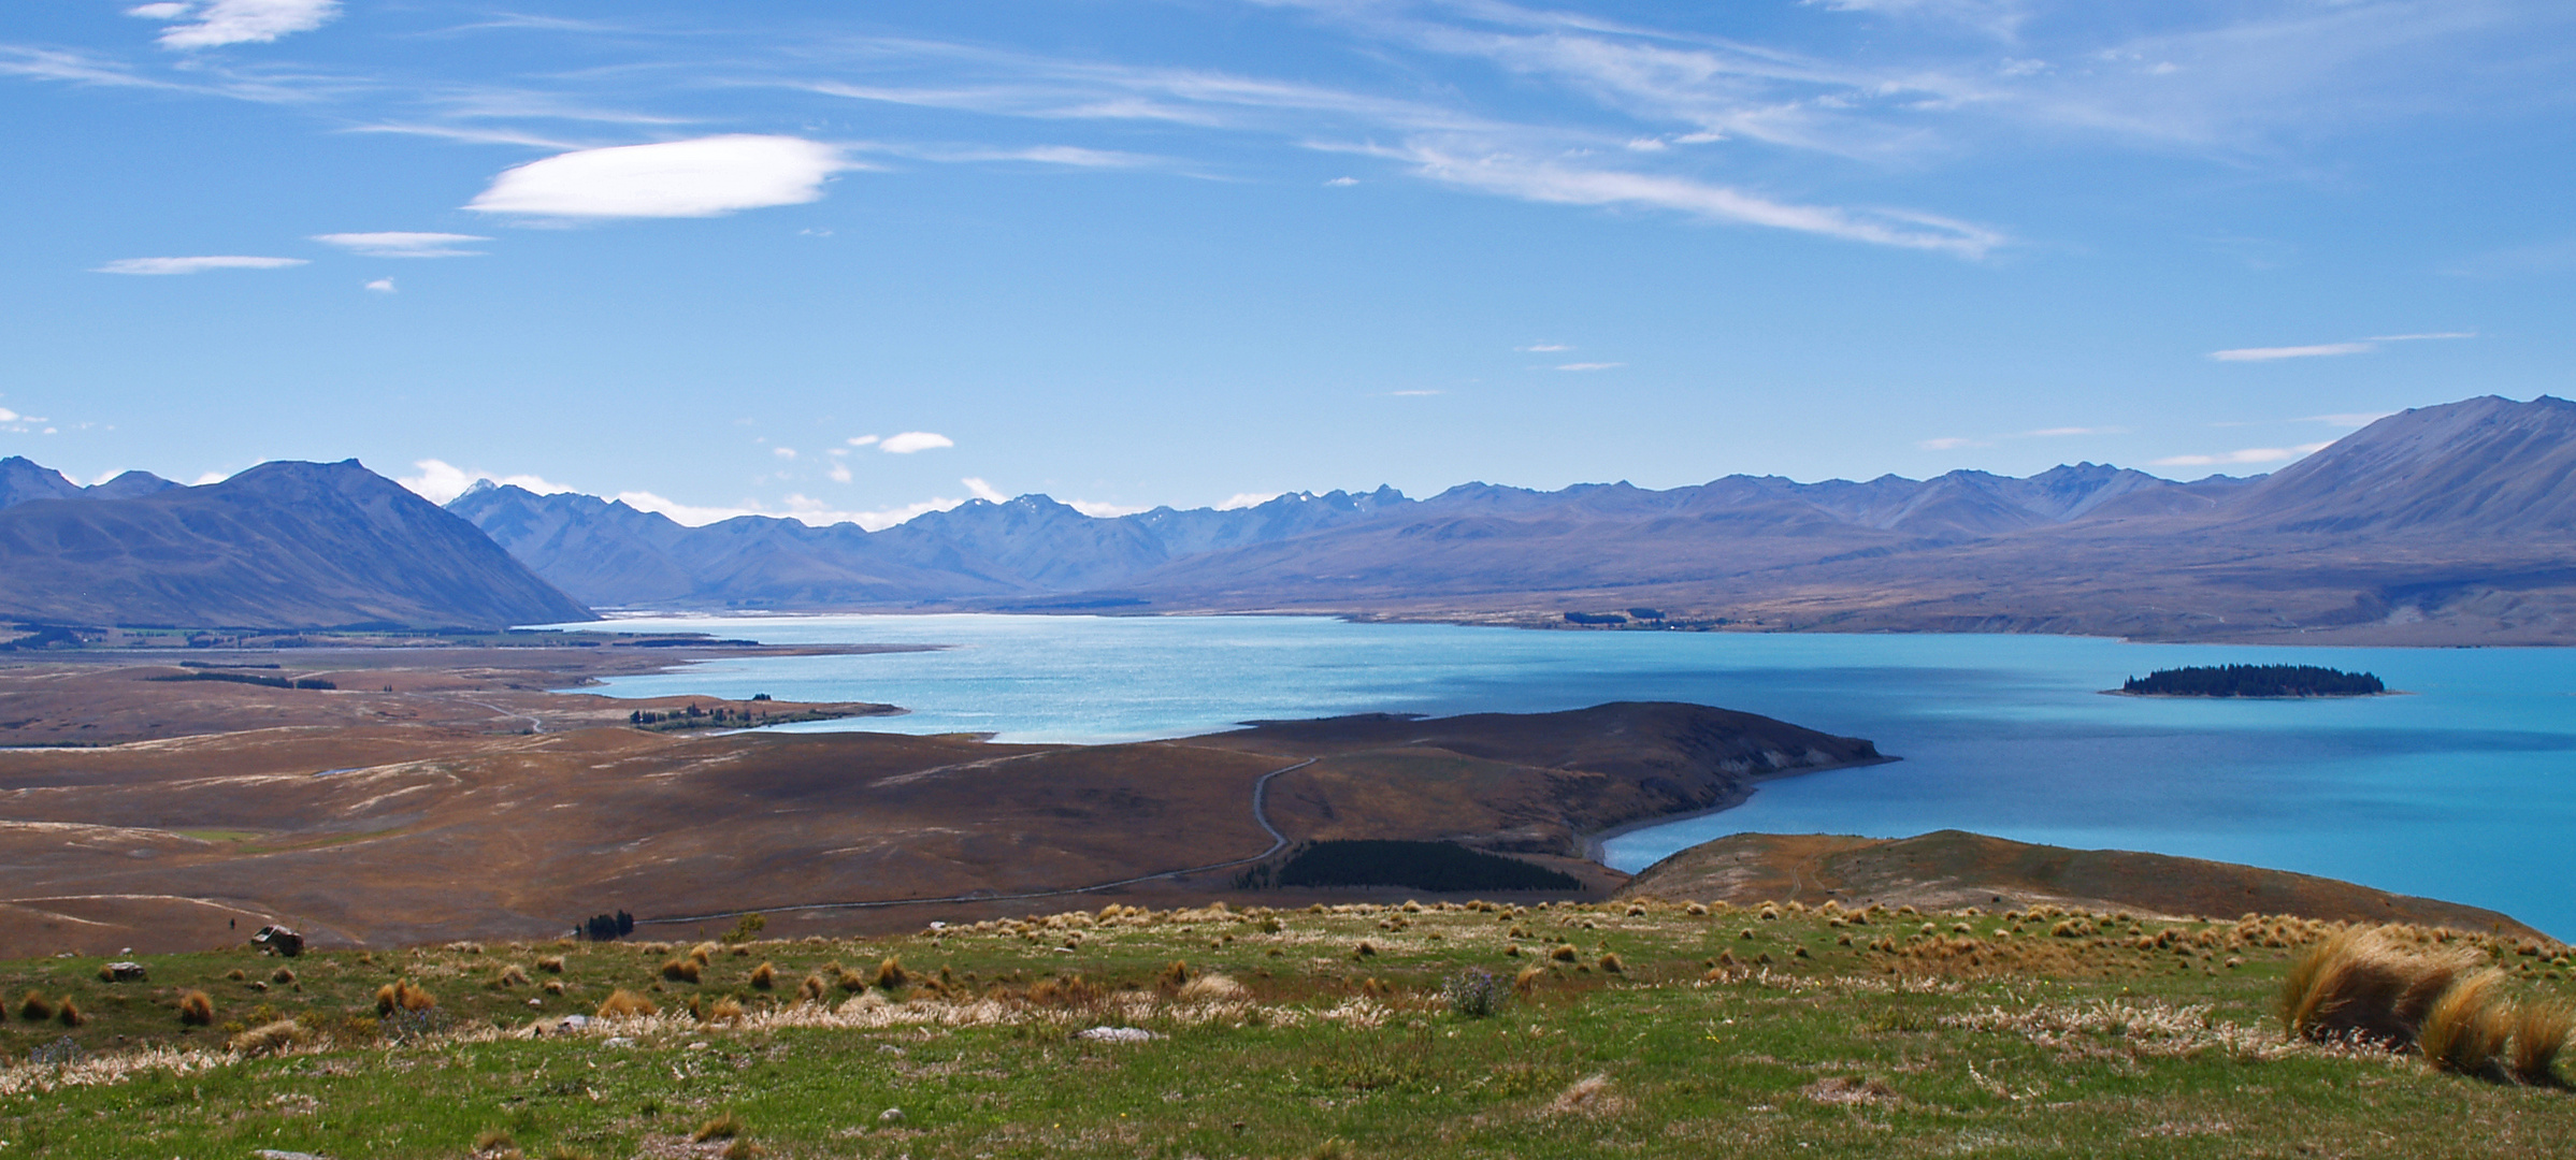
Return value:
M 2282 970 L 2329 931 L 1110 908 L 871 941 L 175 954 L 144 983 L 8 962 L 0 1157 L 2576 1155 L 2563 1088 L 2285 1042 Z M 2576 993 L 2563 947 L 2403 936 Z M 907 983 L 873 983 L 886 957 Z M 1445 995 L 1479 970 L 1504 995 L 1484 1019 Z M 397 980 L 435 1006 L 379 1019 Z M 618 988 L 659 1013 L 531 1031 Z M 188 990 L 211 1026 L 180 1026 Z

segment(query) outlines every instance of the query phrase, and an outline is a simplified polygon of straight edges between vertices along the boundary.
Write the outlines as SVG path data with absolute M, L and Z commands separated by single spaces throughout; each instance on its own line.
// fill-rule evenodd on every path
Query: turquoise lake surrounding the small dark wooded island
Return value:
M 711 661 L 600 692 L 873 700 L 912 712 L 819 728 L 1002 741 L 1172 738 L 1337 712 L 1721 705 L 1862 736 L 1904 761 L 1765 782 L 1736 810 L 1613 838 L 1610 864 L 1641 869 L 1739 831 L 1965 828 L 2329 875 L 2576 936 L 2576 651 L 1533 633 L 1324 617 L 652 617 L 611 628 L 948 646 Z M 2099 694 L 2182 664 L 2324 664 L 2375 671 L 2406 694 Z

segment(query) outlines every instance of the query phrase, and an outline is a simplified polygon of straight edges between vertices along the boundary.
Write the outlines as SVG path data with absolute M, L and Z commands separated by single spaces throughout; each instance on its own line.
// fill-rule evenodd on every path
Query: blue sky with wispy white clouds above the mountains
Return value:
M 2571 75 L 2540 0 L 49 0 L 0 455 L 871 525 L 2269 471 L 2568 394 Z

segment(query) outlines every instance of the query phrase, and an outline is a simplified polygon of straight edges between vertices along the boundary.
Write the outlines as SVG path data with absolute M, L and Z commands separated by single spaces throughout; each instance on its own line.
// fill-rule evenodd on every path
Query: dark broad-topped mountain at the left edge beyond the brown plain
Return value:
M 474 525 L 358 460 L 124 491 L 0 509 L 0 617 L 227 628 L 592 617 Z

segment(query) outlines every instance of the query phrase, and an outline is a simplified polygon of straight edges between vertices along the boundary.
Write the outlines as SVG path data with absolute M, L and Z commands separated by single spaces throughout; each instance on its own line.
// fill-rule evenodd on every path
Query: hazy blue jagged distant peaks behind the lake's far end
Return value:
M 1669 491 L 1631 484 L 1577 484 L 1564 491 L 1461 484 L 1432 499 L 1406 499 L 1381 486 L 1360 494 L 1296 491 L 1242 509 L 1157 507 L 1123 517 L 1087 517 L 1033 494 L 966 502 L 881 532 L 855 525 L 806 527 L 775 517 L 683 527 L 623 502 L 569 491 L 541 496 L 489 481 L 448 502 L 448 509 L 592 604 L 858 607 L 1079 597 L 1151 584 L 1164 568 L 1188 568 L 1188 561 L 1213 553 L 1291 545 L 1363 525 L 1430 522 L 1440 532 L 1476 535 L 1486 522 L 1510 530 L 1528 522 L 1654 525 L 1726 517 L 1767 525 L 1772 535 L 1852 530 L 1958 543 L 2071 520 L 2202 512 L 2244 486 L 2246 481 L 2228 476 L 2177 484 L 2143 471 L 2079 463 L 2030 478 L 1984 471 L 1953 471 L 1929 481 L 1880 476 L 1868 484 L 1726 476 Z M 1103 597 L 1095 604 L 1139 599 Z M 1069 607 L 1061 599 L 1054 604 Z

